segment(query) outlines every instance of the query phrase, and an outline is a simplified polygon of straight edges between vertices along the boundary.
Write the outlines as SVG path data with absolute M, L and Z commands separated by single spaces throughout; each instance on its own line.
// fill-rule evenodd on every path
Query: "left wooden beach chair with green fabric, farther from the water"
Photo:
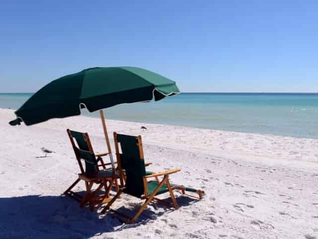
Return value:
M 90 210 L 93 211 L 95 205 L 99 205 L 102 202 L 109 200 L 109 191 L 113 185 L 115 185 L 117 191 L 119 190 L 117 183 L 119 174 L 114 173 L 112 168 L 106 168 L 106 166 L 111 165 L 111 163 L 104 163 L 101 156 L 105 156 L 107 153 L 94 154 L 87 133 L 72 131 L 70 129 L 67 129 L 67 133 L 79 163 L 80 173 L 78 179 L 64 192 L 64 194 L 80 201 L 80 207 L 83 207 L 88 202 Z M 98 157 L 96 158 L 96 156 Z M 85 170 L 81 160 L 84 160 L 85 162 Z M 100 167 L 102 167 L 102 170 L 99 169 Z M 84 196 L 72 191 L 80 180 L 85 182 L 86 192 Z M 94 184 L 97 185 L 97 188 L 92 191 Z M 105 189 L 105 193 L 98 195 L 102 188 Z

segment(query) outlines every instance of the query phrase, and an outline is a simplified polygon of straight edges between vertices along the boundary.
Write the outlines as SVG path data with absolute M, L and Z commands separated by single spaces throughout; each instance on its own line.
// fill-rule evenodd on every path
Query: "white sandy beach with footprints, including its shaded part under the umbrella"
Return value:
M 153 162 L 149 170 L 180 167 L 173 183 L 206 192 L 202 201 L 179 197 L 176 211 L 152 204 L 139 224 L 122 226 L 61 196 L 79 172 L 66 128 L 87 131 L 95 152 L 103 152 L 100 119 L 15 127 L 8 125 L 11 119 L 12 110 L 0 110 L 1 239 L 318 239 L 316 139 L 108 120 L 110 135 L 142 135 L 146 159 Z M 43 156 L 41 147 L 56 153 L 36 158 Z M 82 183 L 76 190 L 83 189 Z M 124 195 L 114 206 L 138 208 L 141 202 Z

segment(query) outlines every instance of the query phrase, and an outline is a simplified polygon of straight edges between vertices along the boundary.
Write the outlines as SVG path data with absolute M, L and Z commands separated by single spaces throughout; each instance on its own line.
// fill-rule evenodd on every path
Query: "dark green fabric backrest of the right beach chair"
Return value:
M 126 172 L 125 193 L 140 197 L 144 194 L 144 181 L 146 175 L 145 160 L 140 158 L 138 137 L 125 134 L 117 134 L 120 143 L 120 162 Z

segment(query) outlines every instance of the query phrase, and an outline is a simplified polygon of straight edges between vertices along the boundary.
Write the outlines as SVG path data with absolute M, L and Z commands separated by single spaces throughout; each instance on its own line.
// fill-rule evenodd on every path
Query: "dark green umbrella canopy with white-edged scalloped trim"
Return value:
M 52 118 L 80 115 L 123 103 L 159 101 L 178 94 L 171 81 L 154 72 L 137 67 L 94 67 L 52 81 L 16 112 L 11 125 L 24 121 L 31 125 Z

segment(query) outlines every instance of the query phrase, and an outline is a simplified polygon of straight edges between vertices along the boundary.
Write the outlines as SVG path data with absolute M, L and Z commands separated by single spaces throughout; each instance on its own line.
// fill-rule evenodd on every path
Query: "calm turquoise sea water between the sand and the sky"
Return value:
M 0 94 L 0 108 L 17 109 L 31 95 Z M 318 138 L 318 94 L 182 93 L 104 113 L 107 119 Z

